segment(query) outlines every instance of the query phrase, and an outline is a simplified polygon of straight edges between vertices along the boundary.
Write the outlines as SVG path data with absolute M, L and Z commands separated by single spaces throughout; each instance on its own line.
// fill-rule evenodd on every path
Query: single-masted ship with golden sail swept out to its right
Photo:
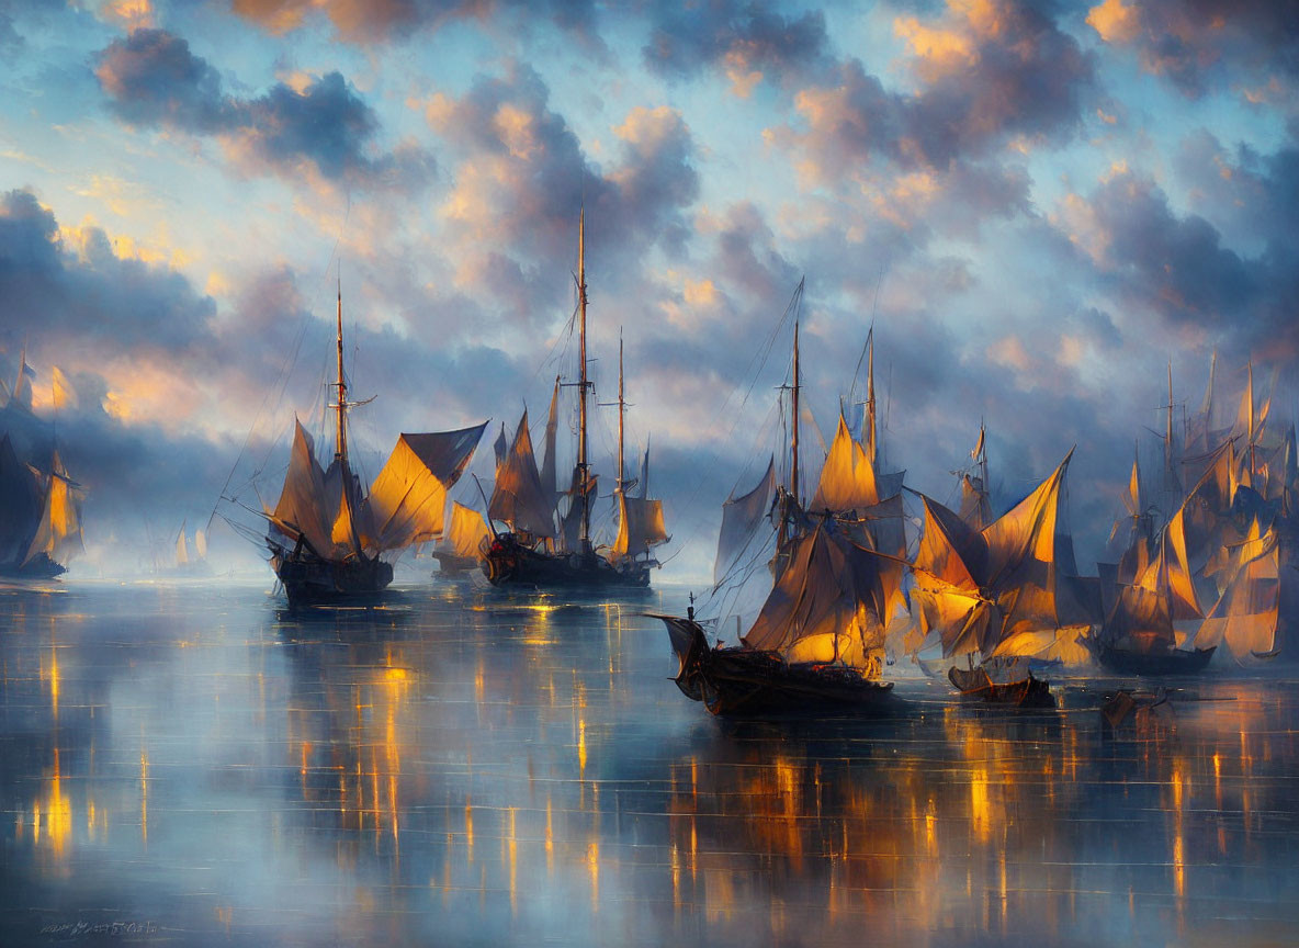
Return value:
M 447 491 L 460 478 L 487 422 L 457 431 L 403 434 L 366 492 L 348 457 L 343 373 L 343 293 L 338 296 L 338 400 L 334 458 L 316 460 L 312 436 L 294 421 L 288 471 L 274 509 L 264 510 L 270 564 L 290 605 L 366 597 L 392 582 L 388 558 L 436 540 Z

